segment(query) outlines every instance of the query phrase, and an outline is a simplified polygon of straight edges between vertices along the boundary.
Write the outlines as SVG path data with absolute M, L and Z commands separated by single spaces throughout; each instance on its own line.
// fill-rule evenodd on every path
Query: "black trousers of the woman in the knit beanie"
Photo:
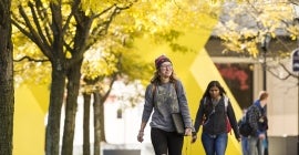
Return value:
M 155 155 L 182 155 L 183 135 L 153 127 L 151 130 L 151 138 Z

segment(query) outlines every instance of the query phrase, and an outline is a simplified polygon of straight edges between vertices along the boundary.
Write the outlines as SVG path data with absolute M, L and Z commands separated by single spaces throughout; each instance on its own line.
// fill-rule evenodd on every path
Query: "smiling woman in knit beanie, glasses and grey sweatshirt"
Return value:
M 145 91 L 145 103 L 137 141 L 143 142 L 144 128 L 152 115 L 151 140 L 156 155 L 182 155 L 184 135 L 175 131 L 172 104 L 176 103 L 185 124 L 185 135 L 192 135 L 193 124 L 182 82 L 175 76 L 172 61 L 161 55 L 156 72 Z

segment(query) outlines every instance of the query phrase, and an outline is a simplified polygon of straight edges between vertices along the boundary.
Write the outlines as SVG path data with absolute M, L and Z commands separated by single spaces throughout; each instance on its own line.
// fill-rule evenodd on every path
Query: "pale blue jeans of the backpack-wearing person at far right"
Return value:
M 249 155 L 264 155 L 264 144 L 262 140 L 258 136 L 249 136 L 248 137 L 248 145 L 249 145 Z

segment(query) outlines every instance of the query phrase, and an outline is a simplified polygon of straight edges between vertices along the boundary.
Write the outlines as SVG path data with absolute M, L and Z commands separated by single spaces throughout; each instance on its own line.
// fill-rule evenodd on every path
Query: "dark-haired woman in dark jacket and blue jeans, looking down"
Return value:
M 196 142 L 197 132 L 203 125 L 202 142 L 206 155 L 225 155 L 228 138 L 227 117 L 233 126 L 235 137 L 240 141 L 235 112 L 225 94 L 226 92 L 218 81 L 210 81 L 200 100 L 192 142 Z

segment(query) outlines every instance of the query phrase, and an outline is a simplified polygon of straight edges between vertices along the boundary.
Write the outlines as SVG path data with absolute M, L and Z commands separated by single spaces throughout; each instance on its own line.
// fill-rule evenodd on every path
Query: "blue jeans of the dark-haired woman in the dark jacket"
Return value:
M 202 134 L 202 142 L 206 155 L 225 155 L 227 146 L 227 133 L 218 135 Z

